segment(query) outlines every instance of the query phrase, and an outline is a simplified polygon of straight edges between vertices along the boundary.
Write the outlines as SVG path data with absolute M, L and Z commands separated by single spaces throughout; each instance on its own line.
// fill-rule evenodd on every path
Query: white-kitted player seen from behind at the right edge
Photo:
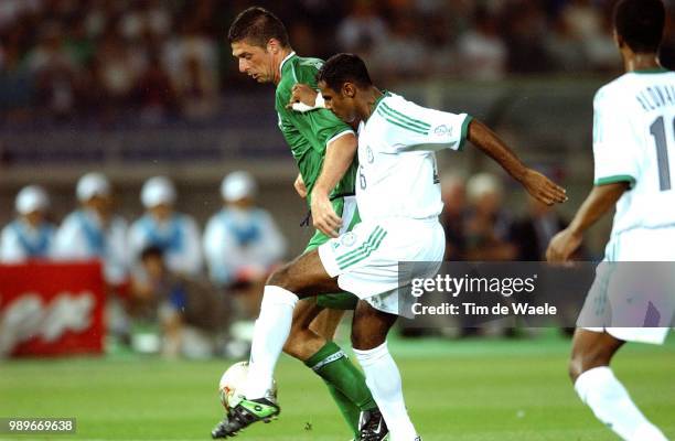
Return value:
M 617 4 L 614 37 L 626 73 L 602 87 L 593 103 L 596 185 L 569 227 L 551 239 L 547 250 L 550 261 L 568 260 L 583 233 L 615 205 L 607 263 L 598 267 L 579 326 L 589 325 L 582 321 L 589 314 L 609 316 L 611 303 L 601 300 L 611 298 L 607 287 L 619 271 L 603 271 L 603 266 L 675 260 L 675 73 L 658 64 L 664 21 L 661 0 L 623 0 Z M 599 304 L 603 306 L 599 309 Z M 657 325 L 668 326 L 673 311 L 660 312 L 668 322 Z M 622 439 L 665 441 L 609 365 L 626 341 L 663 343 L 668 327 L 611 325 L 610 321 L 607 327 L 577 329 L 569 365 L 575 389 L 596 417 Z

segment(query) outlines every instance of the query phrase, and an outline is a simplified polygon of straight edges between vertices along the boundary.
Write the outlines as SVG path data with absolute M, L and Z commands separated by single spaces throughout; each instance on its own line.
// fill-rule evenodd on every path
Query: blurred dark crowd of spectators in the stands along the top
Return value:
M 255 2 L 301 55 L 356 52 L 378 84 L 452 76 L 612 72 L 614 0 Z M 0 115 L 97 125 L 205 120 L 238 75 L 225 35 L 251 1 L 2 0 Z M 669 18 L 673 20 L 673 13 Z M 668 28 L 663 61 L 675 65 Z

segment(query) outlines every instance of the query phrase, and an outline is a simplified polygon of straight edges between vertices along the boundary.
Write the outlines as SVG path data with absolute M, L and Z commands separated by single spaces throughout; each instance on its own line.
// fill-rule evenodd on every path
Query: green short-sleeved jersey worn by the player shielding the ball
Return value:
M 296 158 L 308 194 L 311 194 L 321 174 L 326 146 L 345 132 L 354 131 L 330 110 L 299 112 L 286 108 L 291 97 L 291 89 L 297 83 L 317 88 L 317 73 L 322 65 L 323 61 L 319 58 L 304 58 L 291 52 L 281 62 L 281 79 L 276 93 L 275 107 L 279 116 L 279 129 Z M 354 194 L 356 166 L 357 160 L 354 159 L 331 196 Z

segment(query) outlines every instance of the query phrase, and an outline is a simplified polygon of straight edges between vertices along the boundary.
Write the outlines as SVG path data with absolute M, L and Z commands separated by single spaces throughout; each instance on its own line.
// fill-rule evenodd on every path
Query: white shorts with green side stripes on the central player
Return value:
M 394 217 L 357 224 L 320 246 L 319 257 L 341 289 L 379 311 L 400 315 L 399 290 L 414 277 L 432 277 L 444 251 L 446 235 L 437 218 Z M 403 279 L 398 270 L 404 261 L 426 263 L 415 265 L 415 273 Z

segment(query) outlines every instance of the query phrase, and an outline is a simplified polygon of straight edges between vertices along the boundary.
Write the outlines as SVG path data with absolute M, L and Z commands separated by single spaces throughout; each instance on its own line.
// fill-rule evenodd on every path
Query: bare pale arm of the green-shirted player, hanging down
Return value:
M 333 208 L 330 194 L 354 161 L 357 148 L 358 142 L 352 131 L 344 131 L 329 141 L 321 174 L 312 190 L 310 207 L 313 226 L 331 237 L 338 237 L 342 219 Z

